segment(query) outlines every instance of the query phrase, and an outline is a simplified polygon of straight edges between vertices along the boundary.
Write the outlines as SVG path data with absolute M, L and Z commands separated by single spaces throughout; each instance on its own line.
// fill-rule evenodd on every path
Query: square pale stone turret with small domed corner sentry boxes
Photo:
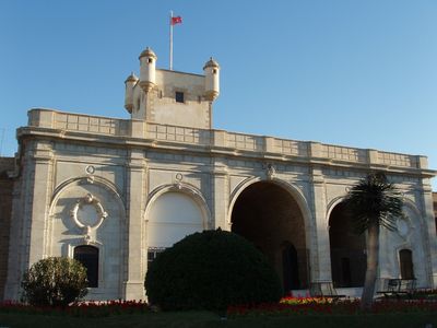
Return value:
M 161 125 L 211 129 L 212 103 L 220 94 L 220 66 L 210 59 L 204 75 L 156 69 L 157 57 L 145 48 L 140 78 L 127 80 L 125 108 L 134 119 Z

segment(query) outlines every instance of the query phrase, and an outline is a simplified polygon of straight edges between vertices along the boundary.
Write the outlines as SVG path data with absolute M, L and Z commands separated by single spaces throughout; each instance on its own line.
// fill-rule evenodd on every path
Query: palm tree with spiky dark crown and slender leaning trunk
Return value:
M 374 302 L 378 270 L 379 229 L 395 230 L 403 216 L 403 197 L 382 172 L 370 173 L 347 191 L 344 200 L 352 224 L 358 234 L 367 231 L 367 269 L 362 295 L 362 308 Z

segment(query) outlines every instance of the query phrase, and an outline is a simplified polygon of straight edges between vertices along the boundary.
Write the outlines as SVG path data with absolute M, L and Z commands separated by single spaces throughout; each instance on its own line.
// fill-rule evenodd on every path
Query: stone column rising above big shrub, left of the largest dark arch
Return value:
M 222 230 L 231 230 L 228 226 L 227 209 L 228 209 L 228 176 L 226 165 L 222 163 L 215 163 L 213 172 L 213 201 L 214 208 L 212 210 L 212 229 L 221 227 Z

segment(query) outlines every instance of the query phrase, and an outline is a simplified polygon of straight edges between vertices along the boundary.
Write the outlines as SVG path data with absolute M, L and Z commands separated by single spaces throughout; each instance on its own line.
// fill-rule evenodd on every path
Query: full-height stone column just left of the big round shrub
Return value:
M 125 280 L 125 298 L 144 298 L 145 254 L 144 241 L 144 204 L 146 166 L 144 153 L 131 150 L 127 167 L 127 277 Z

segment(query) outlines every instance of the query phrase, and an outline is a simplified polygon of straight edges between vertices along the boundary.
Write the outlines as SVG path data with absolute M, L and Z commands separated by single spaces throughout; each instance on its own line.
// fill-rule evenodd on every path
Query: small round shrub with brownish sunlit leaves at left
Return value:
M 67 257 L 49 257 L 23 274 L 23 300 L 36 306 L 67 306 L 87 293 L 86 269 Z

